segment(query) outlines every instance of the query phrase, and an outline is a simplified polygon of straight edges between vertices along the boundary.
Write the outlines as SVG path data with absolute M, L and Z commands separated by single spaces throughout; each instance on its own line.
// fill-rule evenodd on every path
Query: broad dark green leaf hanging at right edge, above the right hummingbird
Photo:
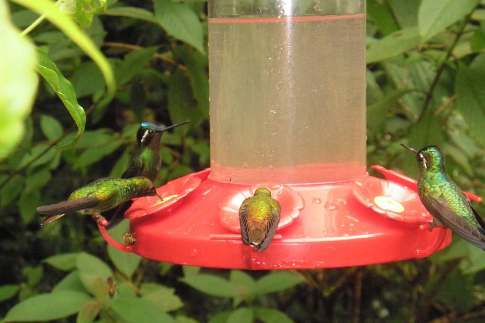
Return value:
M 459 65 L 455 79 L 457 109 L 470 126 L 471 135 L 485 144 L 485 73 Z

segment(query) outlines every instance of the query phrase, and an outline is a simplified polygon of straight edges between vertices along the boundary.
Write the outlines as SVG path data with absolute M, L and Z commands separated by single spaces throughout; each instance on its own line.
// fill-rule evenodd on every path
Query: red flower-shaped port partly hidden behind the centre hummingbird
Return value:
M 279 230 L 288 226 L 298 217 L 300 210 L 305 206 L 303 197 L 297 191 L 283 185 L 258 184 L 247 187 L 222 201 L 219 205 L 219 221 L 221 225 L 233 232 L 241 232 L 239 224 L 239 207 L 247 197 L 254 195 L 259 187 L 266 187 L 271 191 L 271 196 L 276 199 L 281 206 Z

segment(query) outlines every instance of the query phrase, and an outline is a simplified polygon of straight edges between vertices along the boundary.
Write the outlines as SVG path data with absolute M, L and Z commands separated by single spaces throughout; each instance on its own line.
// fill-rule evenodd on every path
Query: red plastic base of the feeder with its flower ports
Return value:
M 250 186 L 211 180 L 207 169 L 158 188 L 162 202 L 156 197 L 134 201 L 125 214 L 134 245 L 122 245 L 99 228 L 114 247 L 143 257 L 245 270 L 391 262 L 427 257 L 450 244 L 450 230 L 427 230 L 432 218 L 415 193 L 415 180 L 373 168 L 388 180 Z M 237 210 L 260 186 L 272 190 L 282 214 L 270 246 L 258 253 L 241 241 Z

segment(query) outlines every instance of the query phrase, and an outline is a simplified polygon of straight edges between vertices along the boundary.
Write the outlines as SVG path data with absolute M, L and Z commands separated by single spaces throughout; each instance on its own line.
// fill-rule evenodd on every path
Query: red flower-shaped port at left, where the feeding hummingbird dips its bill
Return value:
M 158 196 L 145 196 L 133 200 L 131 207 L 125 212 L 126 219 L 144 217 L 147 214 L 165 213 L 177 207 L 182 199 L 191 191 L 195 190 L 201 183 L 201 179 L 187 175 L 168 182 L 157 188 Z

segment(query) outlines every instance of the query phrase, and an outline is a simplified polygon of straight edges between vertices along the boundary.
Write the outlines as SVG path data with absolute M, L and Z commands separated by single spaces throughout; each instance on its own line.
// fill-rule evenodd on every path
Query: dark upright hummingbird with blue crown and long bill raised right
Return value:
M 131 159 L 128 169 L 121 175 L 121 178 L 144 176 L 152 182 L 158 177 L 161 168 L 160 139 L 165 131 L 189 123 L 185 121 L 169 127 L 161 127 L 148 122 L 143 122 L 136 133 L 138 148 Z M 123 221 L 125 211 L 131 206 L 131 200 L 126 201 L 117 208 L 110 210 L 105 215 L 109 216 L 107 229 L 117 226 Z

